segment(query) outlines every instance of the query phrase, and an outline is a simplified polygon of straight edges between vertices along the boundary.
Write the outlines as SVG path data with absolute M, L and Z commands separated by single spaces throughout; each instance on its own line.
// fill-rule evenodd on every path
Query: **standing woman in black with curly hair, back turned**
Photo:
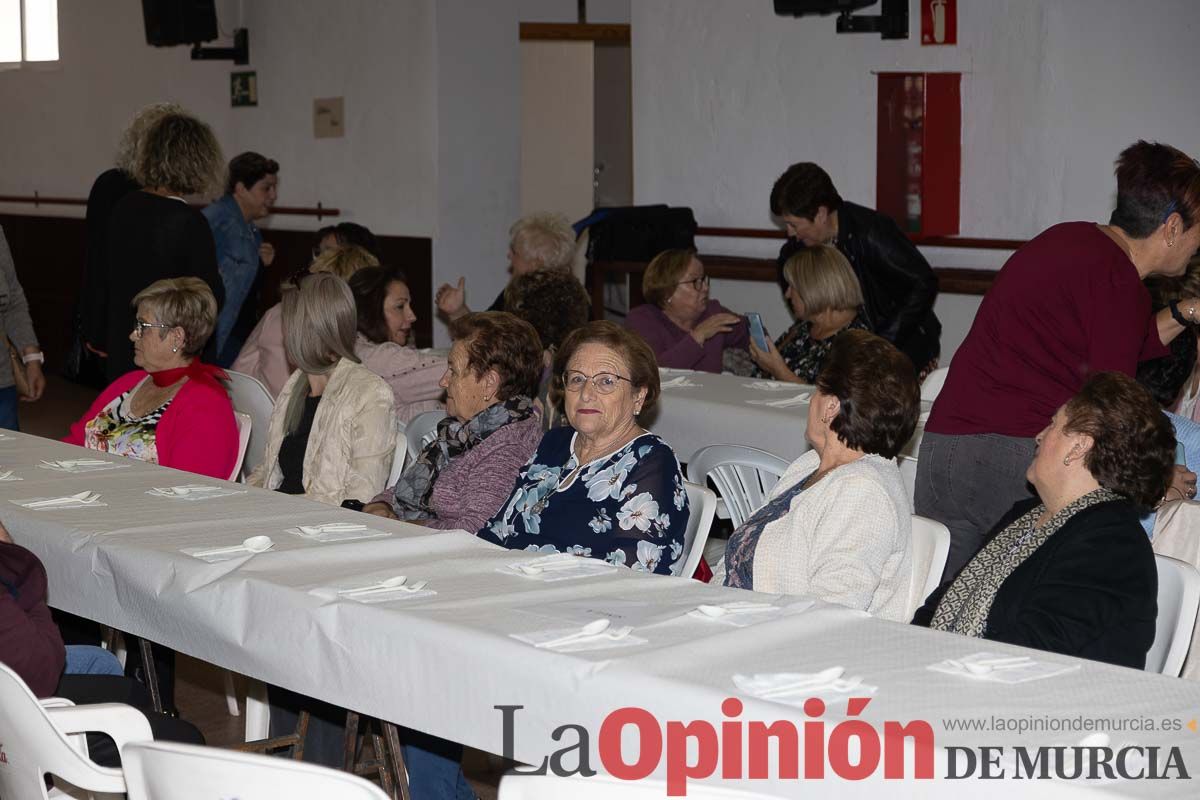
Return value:
M 109 380 L 133 368 L 126 343 L 128 309 L 143 288 L 162 278 L 192 276 L 209 284 L 221 306 L 224 287 L 212 230 L 184 198 L 220 191 L 223 172 L 224 157 L 212 131 L 188 114 L 166 114 L 138 144 L 133 179 L 142 188 L 113 207 L 108 258 L 104 273 L 97 276 L 107 294 L 92 300 L 103 308 L 90 315 L 98 321 L 88 333 L 90 344 L 106 355 Z

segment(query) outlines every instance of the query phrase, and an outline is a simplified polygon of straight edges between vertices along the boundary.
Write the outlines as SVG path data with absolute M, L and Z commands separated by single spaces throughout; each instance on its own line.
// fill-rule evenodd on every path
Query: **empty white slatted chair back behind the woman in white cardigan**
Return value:
M 767 505 L 767 495 L 787 467 L 785 459 L 757 447 L 709 445 L 688 459 L 688 480 L 708 486 L 712 479 L 737 528 Z

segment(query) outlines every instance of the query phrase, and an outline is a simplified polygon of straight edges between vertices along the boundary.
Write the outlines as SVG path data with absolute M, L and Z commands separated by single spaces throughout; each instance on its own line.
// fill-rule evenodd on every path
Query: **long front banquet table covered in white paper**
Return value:
M 0 519 L 14 540 L 46 564 L 52 604 L 163 643 L 181 652 L 340 705 L 472 747 L 499 753 L 502 716 L 494 706 L 522 705 L 515 715 L 515 756 L 528 763 L 574 744 L 551 739 L 559 726 L 590 732 L 592 766 L 598 732 L 610 712 L 640 706 L 666 721 L 727 718 L 722 699 L 738 694 L 736 673 L 816 672 L 845 666 L 878 687 L 859 718 L 882 730 L 886 721 L 926 720 L 936 734 L 938 774 L 948 746 L 1070 745 L 1082 733 L 964 733 L 949 717 L 1105 717 L 1180 720 L 1200 709 L 1200 686 L 1189 681 L 1080 661 L 1064 676 L 1003 686 L 932 673 L 926 667 L 979 650 L 1032 652 L 877 620 L 845 608 L 805 603 L 750 627 L 734 628 L 684 616 L 698 603 L 751 597 L 742 590 L 613 570 L 600 577 L 539 583 L 497 569 L 517 554 L 462 533 L 434 533 L 372 519 L 382 539 L 316 543 L 283 533 L 296 524 L 361 521 L 354 512 L 248 487 L 244 494 L 184 501 L 148 495 L 151 487 L 182 483 L 229 486 L 160 467 L 64 474 L 41 459 L 78 458 L 80 451 L 35 437 L 0 435 Z M 95 452 L 89 456 L 96 457 Z M 98 456 L 121 462 L 121 459 Z M 122 462 L 124 463 L 124 462 Z M 13 501 L 90 489 L 107 505 L 31 511 Z M 184 547 L 236 545 L 266 534 L 274 551 L 209 564 Z M 522 554 L 523 557 L 523 554 Z M 436 596 L 362 604 L 329 588 L 358 585 L 397 573 L 430 582 Z M 755 600 L 772 596 L 754 595 Z M 774 597 L 781 604 L 799 599 Z M 510 638 L 600 615 L 643 619 L 647 643 L 563 654 Z M 1037 654 L 1033 654 L 1037 655 Z M 1055 656 L 1060 661 L 1072 661 Z M 756 699 L 742 721 L 787 720 L 798 729 L 799 708 Z M 846 709 L 822 717 L 832 729 Z M 634 760 L 632 729 L 625 729 Z M 1178 746 L 1189 771 L 1200 770 L 1200 735 L 1188 729 L 1114 734 L 1114 744 Z M 774 762 L 774 757 L 773 757 Z M 568 758 L 568 764 L 574 758 Z M 662 762 L 655 774 L 661 774 Z M 774 770 L 772 774 L 775 774 Z M 1190 780 L 754 781 L 772 796 L 1196 796 Z

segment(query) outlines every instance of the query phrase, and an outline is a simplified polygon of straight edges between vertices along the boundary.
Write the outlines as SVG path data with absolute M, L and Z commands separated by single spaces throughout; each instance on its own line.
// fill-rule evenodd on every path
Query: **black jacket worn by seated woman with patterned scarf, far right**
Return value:
M 1038 504 L 1022 500 L 991 536 Z M 913 616 L 929 626 L 949 587 Z M 1142 669 L 1154 643 L 1158 571 L 1136 507 L 1099 503 L 1067 521 L 1000 585 L 985 639 Z

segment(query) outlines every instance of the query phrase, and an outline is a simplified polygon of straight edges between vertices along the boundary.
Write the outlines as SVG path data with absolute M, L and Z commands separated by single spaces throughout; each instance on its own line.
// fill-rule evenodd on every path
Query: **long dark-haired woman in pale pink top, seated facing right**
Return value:
M 421 355 L 408 347 L 413 333 L 413 295 L 404 273 L 372 266 L 350 277 L 359 309 L 359 337 L 354 354 L 362 366 L 388 381 L 396 395 L 396 419 L 408 422 L 421 411 L 442 408 L 442 375 L 446 360 Z

